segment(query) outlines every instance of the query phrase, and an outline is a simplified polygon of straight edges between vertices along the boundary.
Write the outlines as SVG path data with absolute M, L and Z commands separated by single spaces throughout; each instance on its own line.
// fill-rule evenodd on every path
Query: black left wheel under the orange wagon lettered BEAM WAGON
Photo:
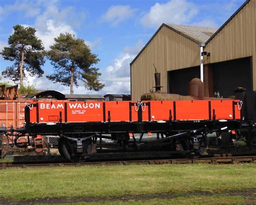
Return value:
M 72 141 L 66 138 L 60 138 L 58 142 L 59 154 L 63 156 L 66 160 L 72 162 L 83 162 L 86 159 L 84 154 L 92 154 L 93 152 L 93 142 L 92 139 L 83 141 L 83 153 L 76 152 L 76 141 Z

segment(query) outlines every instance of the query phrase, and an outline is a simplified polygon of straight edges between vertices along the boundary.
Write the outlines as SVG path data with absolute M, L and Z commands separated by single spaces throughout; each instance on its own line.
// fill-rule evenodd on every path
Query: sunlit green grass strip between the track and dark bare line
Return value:
M 14 201 L 163 193 L 188 200 L 184 195 L 193 192 L 256 188 L 256 164 L 252 163 L 13 168 L 0 170 L 0 176 L 0 199 Z M 238 199 L 242 200 L 231 197 Z

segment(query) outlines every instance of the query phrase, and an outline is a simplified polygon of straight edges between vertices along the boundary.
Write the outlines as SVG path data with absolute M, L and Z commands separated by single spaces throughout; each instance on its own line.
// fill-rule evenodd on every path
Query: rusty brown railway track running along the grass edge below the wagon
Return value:
M 0 169 L 6 168 L 28 168 L 28 167 L 62 167 L 62 166 L 109 166 L 109 165 L 163 165 L 163 164 L 192 164 L 192 163 L 256 163 L 256 155 L 253 156 L 231 156 L 217 155 L 212 158 L 182 158 L 182 159 L 147 159 L 147 160 L 121 160 L 121 161 L 90 161 L 90 162 L 1 162 Z

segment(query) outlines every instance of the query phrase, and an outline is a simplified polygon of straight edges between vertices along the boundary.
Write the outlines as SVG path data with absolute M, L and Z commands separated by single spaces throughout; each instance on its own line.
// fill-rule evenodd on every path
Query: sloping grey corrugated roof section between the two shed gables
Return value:
M 201 43 L 205 43 L 218 29 L 216 28 L 206 28 L 200 26 L 188 26 L 188 25 L 176 25 L 176 24 L 167 24 L 173 29 L 184 33 L 195 40 L 198 40 Z

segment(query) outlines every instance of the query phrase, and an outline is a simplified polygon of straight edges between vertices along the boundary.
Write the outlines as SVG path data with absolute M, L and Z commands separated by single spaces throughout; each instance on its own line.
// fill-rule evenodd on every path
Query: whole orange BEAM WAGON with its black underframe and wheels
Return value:
M 102 139 L 116 140 L 114 148 L 123 152 L 200 154 L 207 146 L 207 133 L 240 127 L 241 104 L 232 99 L 38 101 L 26 106 L 25 121 L 31 135 L 60 136 L 59 153 L 71 161 L 83 161 L 96 151 L 113 152 L 104 149 Z M 146 133 L 157 133 L 157 139 L 143 141 Z

